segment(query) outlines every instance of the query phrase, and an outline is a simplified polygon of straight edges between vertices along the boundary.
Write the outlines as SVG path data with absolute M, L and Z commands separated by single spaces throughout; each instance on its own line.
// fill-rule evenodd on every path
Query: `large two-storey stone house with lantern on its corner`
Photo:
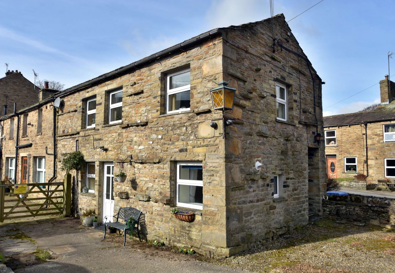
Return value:
M 222 80 L 236 89 L 226 138 L 210 96 Z M 132 206 L 148 239 L 231 256 L 322 214 L 321 84 L 282 14 L 210 30 L 44 101 L 62 99 L 55 180 L 62 154 L 79 150 L 78 213 L 93 208 L 103 221 Z M 6 131 L 11 118 L 1 119 Z M 42 149 L 53 148 L 49 135 Z M 120 170 L 124 182 L 113 180 Z M 195 220 L 172 217 L 175 207 Z

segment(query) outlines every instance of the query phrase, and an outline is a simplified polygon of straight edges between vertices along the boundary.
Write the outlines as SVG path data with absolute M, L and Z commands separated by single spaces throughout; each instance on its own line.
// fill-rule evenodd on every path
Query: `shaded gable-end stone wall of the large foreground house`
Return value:
M 276 37 L 291 32 L 284 17 L 276 17 L 274 23 Z M 224 39 L 224 79 L 231 79 L 229 86 L 237 89 L 235 107 L 229 114 L 236 120 L 227 128 L 226 139 L 227 243 L 231 253 L 307 224 L 310 196 L 311 209 L 321 213 L 324 149 L 314 144 L 313 138 L 317 126 L 323 133 L 321 80 L 314 72 L 316 120 L 306 62 L 278 46 L 273 53 L 272 43 L 271 21 L 241 30 L 235 27 Z M 293 36 L 283 45 L 303 54 Z M 273 78 L 288 86 L 287 122 L 276 120 Z M 311 164 L 318 170 L 309 167 L 308 147 L 314 150 Z M 260 171 L 255 169 L 256 161 L 262 164 Z M 272 196 L 274 175 L 282 176 L 279 198 Z

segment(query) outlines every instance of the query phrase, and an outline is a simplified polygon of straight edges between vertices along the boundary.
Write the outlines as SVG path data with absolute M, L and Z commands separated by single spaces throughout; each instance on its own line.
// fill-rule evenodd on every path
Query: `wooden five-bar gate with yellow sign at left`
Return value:
M 0 223 L 6 219 L 42 215 L 62 214 L 68 216 L 64 211 L 65 183 L 66 180 L 64 183 L 27 184 L 10 184 L 0 181 Z M 50 186 L 49 190 L 46 189 L 48 186 Z M 24 187 L 26 187 L 26 191 L 19 193 Z M 32 194 L 36 195 L 32 196 Z

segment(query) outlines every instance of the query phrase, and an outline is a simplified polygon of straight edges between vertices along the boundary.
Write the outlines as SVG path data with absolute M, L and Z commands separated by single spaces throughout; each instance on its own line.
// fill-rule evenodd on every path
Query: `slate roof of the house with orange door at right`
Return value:
M 395 120 L 395 100 L 371 111 L 324 117 L 324 127 Z

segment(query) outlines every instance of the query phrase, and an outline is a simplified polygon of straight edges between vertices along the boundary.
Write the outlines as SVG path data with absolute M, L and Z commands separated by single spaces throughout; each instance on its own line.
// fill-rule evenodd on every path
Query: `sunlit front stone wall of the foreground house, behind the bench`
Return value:
M 58 154 L 75 150 L 77 144 L 87 161 L 95 162 L 95 192 L 81 193 L 85 171 L 78 179 L 78 209 L 94 208 L 101 221 L 103 164 L 124 164 L 127 180 L 114 182 L 115 208 L 132 206 L 144 213 L 142 230 L 148 239 L 193 247 L 200 252 L 228 256 L 225 215 L 224 141 L 220 128 L 209 126 L 220 113 L 211 112 L 209 90 L 222 80 L 222 41 L 212 37 L 196 48 L 166 60 L 140 67 L 128 74 L 81 90 L 64 99 L 58 114 Z M 164 112 L 166 73 L 190 67 L 191 110 Z M 122 88 L 122 122 L 107 124 L 108 92 Z M 96 127 L 85 129 L 85 100 L 96 96 Z M 78 142 L 76 143 L 76 140 Z M 98 147 L 104 146 L 107 151 Z M 58 158 L 58 162 L 61 158 Z M 175 163 L 199 161 L 203 165 L 202 211 L 193 223 L 171 216 L 175 206 Z M 58 172 L 62 177 L 63 172 Z M 75 176 L 75 173 L 72 174 Z

